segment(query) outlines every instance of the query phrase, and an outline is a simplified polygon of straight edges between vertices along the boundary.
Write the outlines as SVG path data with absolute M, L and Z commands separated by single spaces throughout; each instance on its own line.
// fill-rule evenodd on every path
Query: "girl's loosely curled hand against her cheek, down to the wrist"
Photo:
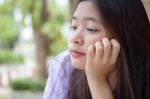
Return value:
M 95 51 L 94 51 L 95 47 Z M 109 74 L 115 69 L 120 44 L 117 40 L 103 38 L 94 45 L 90 45 L 87 51 L 85 72 L 88 80 L 107 80 Z

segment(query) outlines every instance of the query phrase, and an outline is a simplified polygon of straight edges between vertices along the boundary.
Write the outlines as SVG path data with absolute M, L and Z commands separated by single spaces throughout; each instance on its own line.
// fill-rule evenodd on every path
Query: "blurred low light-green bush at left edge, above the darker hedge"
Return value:
M 0 50 L 0 64 L 17 64 L 23 62 L 23 56 L 10 50 Z

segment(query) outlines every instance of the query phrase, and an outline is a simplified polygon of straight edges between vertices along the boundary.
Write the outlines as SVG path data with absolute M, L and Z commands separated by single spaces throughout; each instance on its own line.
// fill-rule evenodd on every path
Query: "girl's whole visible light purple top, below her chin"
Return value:
M 48 62 L 49 77 L 43 99 L 65 99 L 69 77 L 73 70 L 68 51 L 64 51 Z

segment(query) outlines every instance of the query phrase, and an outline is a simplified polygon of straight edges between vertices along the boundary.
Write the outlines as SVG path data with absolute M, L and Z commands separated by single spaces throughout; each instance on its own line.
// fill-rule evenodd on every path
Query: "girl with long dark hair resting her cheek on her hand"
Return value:
M 150 99 L 150 24 L 141 0 L 79 0 L 68 50 L 43 99 Z

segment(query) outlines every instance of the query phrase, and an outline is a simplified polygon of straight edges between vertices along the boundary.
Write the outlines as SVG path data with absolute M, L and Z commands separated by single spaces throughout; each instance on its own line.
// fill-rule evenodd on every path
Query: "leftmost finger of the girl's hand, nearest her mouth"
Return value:
M 87 64 L 92 64 L 94 60 L 94 46 L 90 45 L 87 50 Z

